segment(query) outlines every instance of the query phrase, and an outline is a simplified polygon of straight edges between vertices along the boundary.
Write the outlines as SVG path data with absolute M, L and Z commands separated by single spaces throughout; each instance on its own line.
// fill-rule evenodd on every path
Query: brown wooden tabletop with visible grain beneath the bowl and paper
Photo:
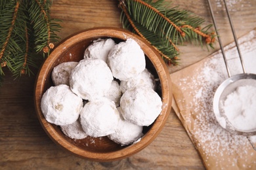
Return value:
M 169 0 L 165 0 L 171 2 Z M 226 0 L 238 37 L 256 27 L 256 1 Z M 221 0 L 211 0 L 223 44 L 233 41 Z M 60 37 L 90 27 L 121 27 L 117 1 L 54 0 L 53 18 L 62 22 Z M 190 10 L 211 23 L 207 1 L 173 0 L 172 7 Z M 186 44 L 181 48 L 181 65 L 169 67 L 179 71 L 213 51 Z M 0 169 L 204 169 L 200 155 L 191 143 L 173 110 L 160 135 L 144 150 L 124 160 L 93 162 L 77 158 L 49 139 L 37 120 L 33 106 L 35 76 L 13 80 L 6 73 L 0 88 Z

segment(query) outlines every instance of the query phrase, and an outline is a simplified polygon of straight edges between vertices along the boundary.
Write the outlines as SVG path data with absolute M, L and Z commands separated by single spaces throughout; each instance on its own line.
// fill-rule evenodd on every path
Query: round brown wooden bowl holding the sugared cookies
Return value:
M 160 116 L 155 122 L 148 127 L 143 127 L 144 136 L 139 142 L 121 146 L 108 137 L 87 137 L 82 140 L 74 140 L 66 137 L 59 126 L 50 124 L 45 120 L 41 112 L 41 97 L 43 93 L 53 86 L 51 73 L 53 68 L 66 61 L 79 61 L 83 59 L 83 52 L 94 40 L 99 38 L 112 38 L 116 42 L 134 39 L 138 42 L 144 54 L 146 55 L 146 68 L 150 70 L 155 78 L 160 79 L 157 92 L 163 101 L 163 107 Z M 41 126 L 49 137 L 58 146 L 68 150 L 72 154 L 86 158 L 92 161 L 114 161 L 131 156 L 150 144 L 160 133 L 171 110 L 172 103 L 171 79 L 169 71 L 160 55 L 150 46 L 150 44 L 139 36 L 125 31 L 124 29 L 112 27 L 98 27 L 87 29 L 83 32 L 76 33 L 72 37 L 61 42 L 43 63 L 35 82 L 35 110 L 41 123 Z

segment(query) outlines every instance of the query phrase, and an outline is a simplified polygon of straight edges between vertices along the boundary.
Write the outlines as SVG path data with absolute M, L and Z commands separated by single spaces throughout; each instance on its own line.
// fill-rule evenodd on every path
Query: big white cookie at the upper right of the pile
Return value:
M 108 65 L 114 77 L 127 81 L 144 71 L 146 67 L 144 52 L 136 41 L 127 39 L 110 50 Z

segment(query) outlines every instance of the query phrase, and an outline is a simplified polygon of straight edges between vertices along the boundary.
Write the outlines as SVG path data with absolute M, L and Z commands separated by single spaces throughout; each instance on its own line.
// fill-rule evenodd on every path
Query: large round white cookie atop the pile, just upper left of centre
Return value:
M 113 80 L 108 65 L 101 59 L 83 59 L 70 73 L 72 92 L 89 101 L 108 92 Z

